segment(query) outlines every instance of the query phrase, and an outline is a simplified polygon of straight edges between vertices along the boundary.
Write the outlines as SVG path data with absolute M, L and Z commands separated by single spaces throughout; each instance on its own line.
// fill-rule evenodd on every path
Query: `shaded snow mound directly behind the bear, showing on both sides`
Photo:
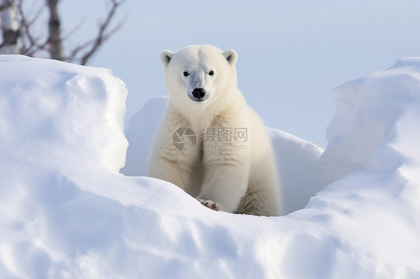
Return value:
M 122 174 L 147 175 L 147 158 L 167 103 L 166 96 L 153 98 L 128 122 L 125 132 L 129 146 Z M 271 128 L 268 131 L 280 177 L 283 214 L 289 214 L 304 208 L 326 186 L 325 169 L 318 163 L 324 150 L 287 132 Z

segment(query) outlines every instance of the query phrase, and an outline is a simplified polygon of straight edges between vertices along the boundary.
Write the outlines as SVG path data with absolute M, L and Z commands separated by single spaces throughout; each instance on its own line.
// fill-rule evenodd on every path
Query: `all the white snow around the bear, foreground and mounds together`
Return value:
M 338 87 L 322 156 L 269 129 L 288 215 L 256 217 L 139 176 L 166 97 L 125 137 L 110 70 L 0 56 L 1 278 L 419 278 L 419 92 L 420 58 Z

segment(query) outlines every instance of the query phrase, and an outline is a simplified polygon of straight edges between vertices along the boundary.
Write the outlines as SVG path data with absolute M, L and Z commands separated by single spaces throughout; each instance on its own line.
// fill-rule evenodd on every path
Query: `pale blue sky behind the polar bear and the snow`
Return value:
M 105 2 L 63 0 L 63 25 L 83 19 L 78 36 L 88 37 Z M 266 126 L 322 148 L 335 111 L 335 87 L 401 57 L 420 56 L 418 0 L 127 0 L 118 17 L 126 18 L 123 29 L 89 65 L 110 68 L 126 83 L 127 117 L 162 92 L 125 55 L 165 91 L 158 59 L 163 49 L 190 44 L 234 49 L 238 85 L 249 99 L 296 54 L 249 105 Z M 71 40 L 77 43 L 76 36 Z

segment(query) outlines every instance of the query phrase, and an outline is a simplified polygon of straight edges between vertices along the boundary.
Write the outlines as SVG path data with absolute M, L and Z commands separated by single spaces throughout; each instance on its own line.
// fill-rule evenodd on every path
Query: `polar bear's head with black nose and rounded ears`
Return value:
M 194 45 L 175 53 L 164 50 L 160 60 L 168 93 L 183 103 L 220 99 L 228 88 L 236 87 L 234 50 Z

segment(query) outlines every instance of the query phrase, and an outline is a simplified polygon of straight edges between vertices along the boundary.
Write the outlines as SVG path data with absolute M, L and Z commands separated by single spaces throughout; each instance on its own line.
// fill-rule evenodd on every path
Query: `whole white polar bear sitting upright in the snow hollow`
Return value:
M 237 87 L 236 52 L 192 45 L 160 60 L 169 102 L 148 175 L 213 210 L 279 216 L 271 141 Z

